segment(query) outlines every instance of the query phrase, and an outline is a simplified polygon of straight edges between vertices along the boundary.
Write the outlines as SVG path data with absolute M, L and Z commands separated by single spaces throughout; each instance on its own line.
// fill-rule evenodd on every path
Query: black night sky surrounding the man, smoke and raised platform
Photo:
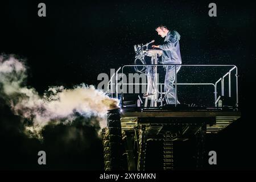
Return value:
M 46 17 L 38 16 L 40 2 Z M 217 17 L 208 16 L 210 2 Z M 98 74 L 133 64 L 134 44 L 162 43 L 155 27 L 167 24 L 181 35 L 183 64 L 237 65 L 242 118 L 209 138 L 208 149 L 219 154 L 214 169 L 255 169 L 254 7 L 247 1 L 1 1 L 0 53 L 25 59 L 27 85 L 41 94 L 54 85 L 97 86 Z M 20 118 L 2 101 L 0 109 L 0 169 L 103 169 L 99 129 L 82 125 L 86 119 L 48 126 L 40 142 L 19 132 Z M 71 127 L 86 135 L 65 143 L 60 138 Z M 51 153 L 46 167 L 36 163 L 41 149 Z

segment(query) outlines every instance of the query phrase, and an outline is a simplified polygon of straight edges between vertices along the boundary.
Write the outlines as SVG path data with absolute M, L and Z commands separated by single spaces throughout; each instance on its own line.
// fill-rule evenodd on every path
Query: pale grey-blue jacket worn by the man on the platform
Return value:
M 176 31 L 169 31 L 164 39 L 164 43 L 159 46 L 163 50 L 163 64 L 181 64 L 180 56 L 180 35 Z

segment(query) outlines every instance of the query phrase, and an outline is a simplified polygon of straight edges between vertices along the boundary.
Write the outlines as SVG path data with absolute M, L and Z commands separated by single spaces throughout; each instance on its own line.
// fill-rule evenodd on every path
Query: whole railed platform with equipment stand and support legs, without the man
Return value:
M 109 110 L 108 127 L 102 130 L 105 170 L 144 171 L 155 156 L 160 168 L 172 170 L 182 163 L 179 155 L 175 158 L 178 150 L 191 153 L 195 168 L 203 169 L 207 134 L 220 133 L 241 117 L 237 67 L 181 65 L 179 75 L 175 72 L 176 97 L 166 90 L 163 68 L 180 65 L 158 65 L 160 53 L 147 45 L 135 46 L 134 65 L 118 68 L 108 82 L 107 92 L 121 108 Z M 170 105 L 168 94 L 190 104 Z

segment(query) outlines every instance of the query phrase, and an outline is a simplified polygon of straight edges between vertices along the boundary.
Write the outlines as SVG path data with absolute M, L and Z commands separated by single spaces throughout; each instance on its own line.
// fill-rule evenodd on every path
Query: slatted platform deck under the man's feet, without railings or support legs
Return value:
M 207 133 L 218 133 L 241 117 L 240 111 L 228 108 L 126 108 L 121 112 L 121 127 L 124 131 L 133 131 L 138 125 L 147 126 L 149 134 L 161 134 L 167 126 L 179 126 L 184 134 L 191 132 L 192 126 L 205 123 Z M 183 126 L 181 126 L 183 125 Z M 196 131 L 195 131 L 196 132 Z

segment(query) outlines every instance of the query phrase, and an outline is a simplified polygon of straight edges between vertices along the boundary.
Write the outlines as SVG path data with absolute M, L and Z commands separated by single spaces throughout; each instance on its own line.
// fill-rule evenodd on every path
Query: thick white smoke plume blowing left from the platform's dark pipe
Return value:
M 43 96 L 23 83 L 26 80 L 24 63 L 14 56 L 0 56 L 0 96 L 9 102 L 16 115 L 32 121 L 28 130 L 38 132 L 51 121 L 71 122 L 76 113 L 97 117 L 100 126 L 106 126 L 106 113 L 118 108 L 119 101 L 109 98 L 94 86 L 81 84 L 73 89 L 50 87 Z

